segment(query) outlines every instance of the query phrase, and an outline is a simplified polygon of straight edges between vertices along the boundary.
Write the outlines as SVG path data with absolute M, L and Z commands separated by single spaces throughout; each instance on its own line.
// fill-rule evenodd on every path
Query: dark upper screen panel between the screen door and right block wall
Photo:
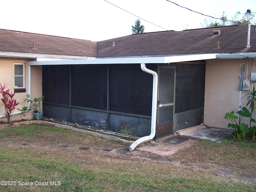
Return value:
M 175 113 L 204 107 L 205 63 L 176 65 Z

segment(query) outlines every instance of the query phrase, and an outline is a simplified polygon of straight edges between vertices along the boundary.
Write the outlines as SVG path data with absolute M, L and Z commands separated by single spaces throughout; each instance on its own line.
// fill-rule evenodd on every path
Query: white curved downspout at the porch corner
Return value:
M 151 113 L 151 133 L 148 136 L 141 137 L 134 141 L 129 150 L 132 151 L 136 146 L 141 144 L 142 142 L 152 140 L 156 135 L 156 111 L 157 111 L 157 92 L 158 92 L 158 75 L 156 72 L 146 68 L 145 63 L 140 64 L 140 68 L 142 71 L 153 75 L 153 90 L 152 90 L 152 113 Z

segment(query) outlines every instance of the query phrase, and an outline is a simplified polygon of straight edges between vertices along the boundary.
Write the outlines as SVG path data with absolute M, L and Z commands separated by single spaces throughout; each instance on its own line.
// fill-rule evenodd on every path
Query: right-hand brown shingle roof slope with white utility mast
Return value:
M 98 42 L 98 56 L 101 58 L 256 52 L 254 27 L 251 26 L 251 48 L 249 49 L 246 48 L 248 26 L 242 25 L 132 34 Z M 213 30 L 220 30 L 220 35 L 213 36 Z M 220 44 L 219 49 L 217 49 L 218 41 Z M 115 42 L 115 46 L 112 46 L 113 42 Z

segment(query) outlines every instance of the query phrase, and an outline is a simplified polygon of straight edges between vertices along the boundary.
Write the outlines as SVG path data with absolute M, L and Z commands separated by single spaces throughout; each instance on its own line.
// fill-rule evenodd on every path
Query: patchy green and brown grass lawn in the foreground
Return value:
M 5 128 L 0 136 L 0 180 L 16 181 L 13 186 L 0 186 L 3 192 L 256 191 L 255 180 L 239 176 L 256 176 L 250 172 L 255 166 L 248 164 L 252 160 L 255 164 L 254 144 L 201 142 L 169 156 L 174 161 L 164 162 L 118 155 L 115 151 L 124 148 L 122 144 L 55 127 Z M 60 148 L 63 143 L 69 148 Z M 113 150 L 103 152 L 103 148 Z M 230 161 L 234 165 L 225 166 Z M 216 174 L 219 169 L 231 174 Z M 20 186 L 21 182 L 33 185 Z

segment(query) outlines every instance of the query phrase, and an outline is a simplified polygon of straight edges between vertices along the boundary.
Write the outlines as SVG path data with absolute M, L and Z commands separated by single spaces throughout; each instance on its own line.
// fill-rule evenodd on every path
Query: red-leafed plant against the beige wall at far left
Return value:
M 4 86 L 0 84 L 0 93 L 2 94 L 2 97 L 3 97 L 1 98 L 1 100 L 4 105 L 6 120 L 7 120 L 7 123 L 10 123 L 13 111 L 15 107 L 19 104 L 19 102 L 17 102 L 16 99 L 13 98 L 15 93 L 10 92 L 10 89 L 5 91 L 5 88 L 6 88 L 5 84 Z

